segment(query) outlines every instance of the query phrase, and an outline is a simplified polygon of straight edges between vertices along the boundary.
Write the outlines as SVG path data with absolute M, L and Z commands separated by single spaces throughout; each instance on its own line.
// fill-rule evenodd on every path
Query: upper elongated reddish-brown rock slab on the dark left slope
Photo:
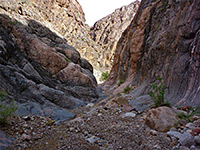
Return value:
M 56 74 L 65 68 L 68 62 L 54 52 L 54 49 L 38 38 L 30 38 L 26 33 L 20 33 L 18 45 L 27 56 L 46 68 L 50 73 Z

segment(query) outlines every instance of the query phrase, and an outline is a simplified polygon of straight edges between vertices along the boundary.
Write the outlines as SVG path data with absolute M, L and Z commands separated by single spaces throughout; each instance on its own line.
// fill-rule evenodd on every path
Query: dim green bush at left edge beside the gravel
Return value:
M 17 110 L 17 106 L 15 106 L 14 101 L 12 101 L 10 104 L 4 104 L 2 102 L 4 97 L 8 97 L 8 94 L 0 91 L 0 122 L 3 124 L 6 123 L 7 118 L 12 116 Z

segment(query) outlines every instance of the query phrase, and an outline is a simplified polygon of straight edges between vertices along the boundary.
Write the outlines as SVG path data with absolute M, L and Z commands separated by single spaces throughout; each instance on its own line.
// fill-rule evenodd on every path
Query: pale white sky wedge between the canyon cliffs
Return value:
M 115 9 L 135 0 L 78 0 L 85 13 L 86 23 L 92 26 L 99 19 L 111 14 Z

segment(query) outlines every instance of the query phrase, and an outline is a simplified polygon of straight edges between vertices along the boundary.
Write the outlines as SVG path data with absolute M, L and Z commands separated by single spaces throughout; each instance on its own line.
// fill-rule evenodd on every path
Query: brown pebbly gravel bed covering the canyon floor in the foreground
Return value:
M 166 133 L 144 124 L 143 113 L 122 105 L 91 105 L 74 110 L 77 117 L 56 125 L 44 117 L 19 118 L 9 135 L 16 139 L 9 150 L 170 150 Z M 128 107 L 127 107 L 128 108 Z M 131 111 L 130 111 L 131 110 Z M 13 132 L 13 133 L 12 133 Z M 12 134 L 11 134 L 12 133 Z

